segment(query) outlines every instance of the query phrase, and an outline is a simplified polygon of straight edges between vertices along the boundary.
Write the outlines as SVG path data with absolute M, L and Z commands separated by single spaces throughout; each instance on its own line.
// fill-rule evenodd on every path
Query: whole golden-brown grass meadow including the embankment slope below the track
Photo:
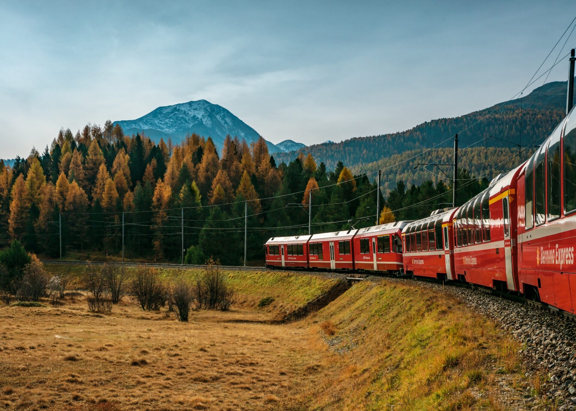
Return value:
M 195 275 L 165 273 L 183 274 Z M 0 408 L 504 410 L 530 396 L 519 347 L 454 298 L 362 283 L 279 325 L 270 320 L 334 281 L 266 275 L 231 272 L 239 303 L 189 323 L 129 298 L 91 314 L 74 292 L 56 308 L 0 305 Z M 265 296 L 274 303 L 257 308 Z

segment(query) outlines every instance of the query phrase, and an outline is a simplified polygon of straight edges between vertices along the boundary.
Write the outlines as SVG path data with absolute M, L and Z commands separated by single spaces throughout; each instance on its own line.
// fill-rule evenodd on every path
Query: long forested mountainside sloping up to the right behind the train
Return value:
M 533 150 L 526 146 L 541 142 L 541 138 L 564 117 L 566 88 L 567 82 L 550 82 L 537 87 L 528 96 L 463 116 L 426 121 L 410 130 L 391 134 L 314 144 L 290 153 L 278 153 L 274 159 L 278 164 L 288 163 L 304 151 L 304 154 L 311 153 L 316 162 L 324 162 L 328 170 L 334 169 L 338 161 L 356 174 L 381 169 L 382 181 L 392 181 L 393 188 L 396 179 L 420 184 L 428 179 L 445 178 L 438 169 L 413 169 L 419 162 L 449 162 L 453 136 L 458 133 L 461 168 L 473 170 L 478 176 L 492 173 L 495 165 L 504 162 L 499 170 L 506 171 L 518 161 L 518 157 L 514 159 L 518 145 L 522 146 L 522 159 L 526 159 Z M 464 149 L 467 146 L 470 147 Z M 426 155 L 420 155 L 424 151 Z M 449 157 L 445 158 L 447 155 Z M 506 162 L 507 159 L 511 161 Z

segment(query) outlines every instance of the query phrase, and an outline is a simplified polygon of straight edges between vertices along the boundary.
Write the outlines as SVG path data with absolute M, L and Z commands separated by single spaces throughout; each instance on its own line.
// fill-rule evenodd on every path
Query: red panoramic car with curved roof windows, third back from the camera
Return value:
M 455 279 L 452 218 L 457 210 L 437 210 L 429 217 L 408 223 L 404 227 L 404 272 L 416 277 Z

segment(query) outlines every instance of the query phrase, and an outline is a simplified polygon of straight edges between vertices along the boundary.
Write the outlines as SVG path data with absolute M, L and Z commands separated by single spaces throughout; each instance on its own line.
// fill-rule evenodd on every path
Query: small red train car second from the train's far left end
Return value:
M 354 235 L 358 230 L 314 234 L 308 243 L 309 267 L 331 270 L 354 269 Z

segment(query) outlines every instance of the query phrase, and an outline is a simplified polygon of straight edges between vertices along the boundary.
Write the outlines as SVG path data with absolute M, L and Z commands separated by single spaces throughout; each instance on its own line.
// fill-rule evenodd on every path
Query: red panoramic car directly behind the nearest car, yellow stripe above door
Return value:
M 518 291 L 517 177 L 522 165 L 500 174 L 454 216 L 457 279 L 497 290 Z

